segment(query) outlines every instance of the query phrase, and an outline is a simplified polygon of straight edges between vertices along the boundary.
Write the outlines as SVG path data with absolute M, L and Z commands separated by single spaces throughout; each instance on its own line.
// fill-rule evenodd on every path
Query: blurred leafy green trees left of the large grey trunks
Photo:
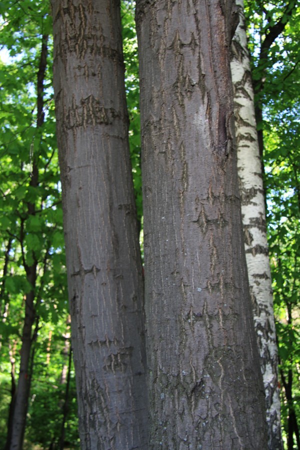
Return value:
M 48 6 L 29 1 L 1 6 L 1 37 L 9 59 L 1 62 L 0 70 L 0 394 L 1 404 L 10 407 L 8 433 L 5 436 L 1 429 L 0 440 L 6 440 L 6 448 L 25 448 L 26 418 L 31 435 L 37 425 L 30 420 L 34 398 L 41 389 L 47 396 L 59 391 L 57 379 L 45 370 L 48 357 L 42 350 L 55 328 L 53 347 L 56 362 L 61 360 L 59 333 L 67 297 Z M 9 371 L 10 392 L 5 376 Z M 48 405 L 47 418 L 53 417 L 53 407 L 59 421 L 58 402 L 48 399 Z M 1 417 L 6 419 L 7 409 Z

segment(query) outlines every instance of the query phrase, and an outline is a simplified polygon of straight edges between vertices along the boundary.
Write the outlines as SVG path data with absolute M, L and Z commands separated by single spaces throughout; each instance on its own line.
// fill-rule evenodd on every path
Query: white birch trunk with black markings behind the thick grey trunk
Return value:
M 268 448 L 275 450 L 282 448 L 282 442 L 273 296 L 243 1 L 238 0 L 237 5 L 240 20 L 231 44 L 230 64 L 237 168 L 250 296 L 265 390 Z

